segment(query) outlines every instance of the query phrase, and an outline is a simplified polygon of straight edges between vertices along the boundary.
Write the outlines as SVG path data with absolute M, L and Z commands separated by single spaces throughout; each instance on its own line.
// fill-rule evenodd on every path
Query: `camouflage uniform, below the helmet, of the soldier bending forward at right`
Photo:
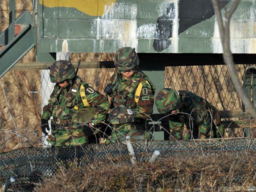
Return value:
M 182 138 L 184 124 L 193 130 L 193 135 L 200 138 L 213 137 L 211 128 L 216 128 L 214 122 L 220 122 L 218 110 L 207 100 L 186 90 L 179 91 L 182 99 L 180 113 L 169 115 L 169 126 L 176 139 Z M 212 117 L 212 118 L 211 118 Z M 217 119 L 216 119 L 217 117 Z M 211 134 L 211 135 L 210 135 Z

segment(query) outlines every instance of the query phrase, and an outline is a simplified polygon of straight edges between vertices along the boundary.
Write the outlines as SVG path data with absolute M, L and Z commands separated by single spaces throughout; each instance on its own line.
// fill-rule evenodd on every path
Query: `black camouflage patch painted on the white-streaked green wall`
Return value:
M 225 7 L 229 1 L 230 0 L 225 2 L 221 1 L 220 8 L 222 9 Z M 178 9 L 178 35 L 189 29 L 189 27 L 205 21 L 215 14 L 211 1 L 180 0 L 178 3 Z M 155 40 L 153 42 L 153 48 L 155 51 L 161 52 L 171 45 L 171 40 L 169 38 L 173 37 L 174 19 L 175 3 L 171 3 L 170 6 L 166 9 L 166 13 L 157 19 Z

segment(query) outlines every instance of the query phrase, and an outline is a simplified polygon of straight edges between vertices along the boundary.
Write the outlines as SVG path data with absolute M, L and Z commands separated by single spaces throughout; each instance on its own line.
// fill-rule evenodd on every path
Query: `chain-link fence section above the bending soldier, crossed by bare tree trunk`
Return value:
M 235 65 L 243 84 L 246 67 Z M 207 99 L 218 110 L 242 109 L 227 65 L 173 66 L 165 68 L 165 87 L 189 90 Z

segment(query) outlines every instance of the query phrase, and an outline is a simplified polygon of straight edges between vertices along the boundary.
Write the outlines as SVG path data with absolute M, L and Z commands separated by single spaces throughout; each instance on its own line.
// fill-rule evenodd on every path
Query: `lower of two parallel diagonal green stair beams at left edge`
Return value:
M 35 33 L 35 29 L 31 25 L 26 26 L 16 35 L 14 40 L 8 43 L 0 52 L 0 78 L 35 46 Z

